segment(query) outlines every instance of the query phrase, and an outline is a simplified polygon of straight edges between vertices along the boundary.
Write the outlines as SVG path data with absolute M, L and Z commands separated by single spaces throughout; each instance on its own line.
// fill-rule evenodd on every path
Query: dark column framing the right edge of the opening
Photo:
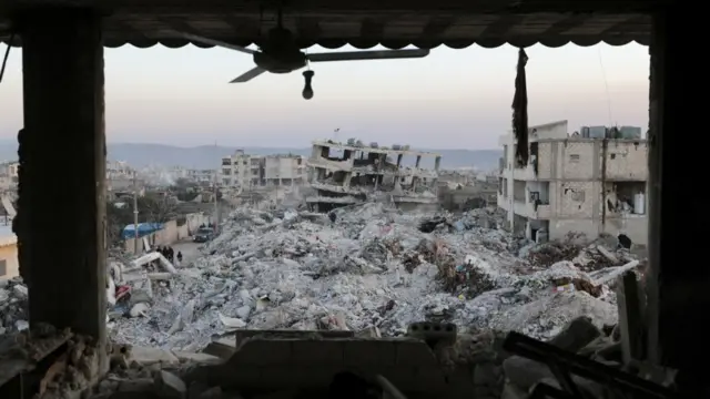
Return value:
M 710 221 L 692 184 L 707 170 L 708 155 L 682 133 L 694 131 L 698 115 L 707 112 L 703 102 L 688 101 L 688 88 L 706 72 L 697 51 L 684 45 L 703 24 L 700 16 L 679 9 L 653 16 L 650 45 L 648 356 L 680 369 L 679 388 L 692 392 L 683 397 L 706 397 L 696 390 L 708 386 L 697 361 L 710 355 L 702 344 L 702 327 L 710 324 L 710 267 L 702 249 Z

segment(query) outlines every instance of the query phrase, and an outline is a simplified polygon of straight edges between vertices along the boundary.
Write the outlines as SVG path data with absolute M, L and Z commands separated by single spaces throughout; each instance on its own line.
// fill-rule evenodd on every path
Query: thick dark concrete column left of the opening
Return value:
M 105 342 L 105 136 L 101 20 L 82 9 L 29 12 L 18 141 L 21 274 L 30 325 Z M 68 170 L 67 178 L 52 171 Z M 103 354 L 103 351 L 100 351 Z

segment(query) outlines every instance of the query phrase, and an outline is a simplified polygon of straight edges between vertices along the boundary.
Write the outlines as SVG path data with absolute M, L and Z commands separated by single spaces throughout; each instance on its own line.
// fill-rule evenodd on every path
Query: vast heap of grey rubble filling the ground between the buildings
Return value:
M 606 283 L 638 262 L 601 242 L 526 246 L 495 228 L 496 217 L 477 209 L 447 221 L 366 204 L 336 211 L 333 222 L 242 208 L 201 259 L 150 284 L 124 283 L 133 287 L 109 326 L 118 342 L 199 350 L 242 328 L 374 326 L 399 336 L 434 320 L 547 339 L 581 315 L 616 324 Z M 0 287 L 2 331 L 27 328 L 26 298 L 17 279 Z

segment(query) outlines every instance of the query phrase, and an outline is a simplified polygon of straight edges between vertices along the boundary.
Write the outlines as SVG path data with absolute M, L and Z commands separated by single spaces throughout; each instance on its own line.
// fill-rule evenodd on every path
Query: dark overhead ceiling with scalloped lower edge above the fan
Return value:
M 592 45 L 648 44 L 652 7 L 661 0 L 393 0 L 387 2 L 292 0 L 283 9 L 284 27 L 300 47 L 366 49 L 447 45 L 455 49 L 505 43 Z M 28 6 L 65 6 L 68 0 L 0 1 L 0 41 L 9 41 L 9 16 Z M 276 9 L 247 0 L 72 0 L 105 10 L 104 44 L 180 48 L 192 33 L 239 45 L 258 44 L 273 28 Z M 4 18 L 3 18 L 4 16 Z M 20 45 L 19 37 L 13 44 Z M 193 43 L 201 48 L 210 45 Z

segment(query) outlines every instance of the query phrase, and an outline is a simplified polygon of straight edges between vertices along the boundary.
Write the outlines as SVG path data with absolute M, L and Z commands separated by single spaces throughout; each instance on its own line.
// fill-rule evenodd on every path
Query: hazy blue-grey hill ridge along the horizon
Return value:
M 108 156 L 114 161 L 125 161 L 130 165 L 142 167 L 148 165 L 183 166 L 189 168 L 215 168 L 220 158 L 234 153 L 237 149 L 248 154 L 297 154 L 310 156 L 310 147 L 233 147 L 201 145 L 180 147 L 164 144 L 112 143 L 108 145 Z M 419 149 L 418 149 L 419 150 Z M 471 167 L 493 170 L 498 166 L 501 150 L 427 150 L 442 154 L 442 167 Z M 0 161 L 17 160 L 17 143 L 0 141 Z M 423 164 L 423 166 L 428 166 Z

